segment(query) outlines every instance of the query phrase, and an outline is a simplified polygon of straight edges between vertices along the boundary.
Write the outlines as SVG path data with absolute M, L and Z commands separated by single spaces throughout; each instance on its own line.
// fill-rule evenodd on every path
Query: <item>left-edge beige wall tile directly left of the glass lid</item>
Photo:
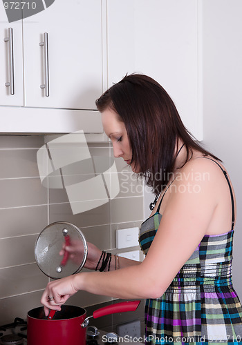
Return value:
M 0 268 L 35 262 L 37 235 L 0 239 Z

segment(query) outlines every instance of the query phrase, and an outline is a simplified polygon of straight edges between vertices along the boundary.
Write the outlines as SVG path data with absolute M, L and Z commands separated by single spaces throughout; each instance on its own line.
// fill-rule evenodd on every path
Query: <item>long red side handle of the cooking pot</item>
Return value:
M 125 311 L 136 311 L 139 304 L 140 301 L 127 301 L 111 304 L 110 306 L 104 306 L 103 308 L 97 309 L 97 311 L 93 312 L 93 318 L 97 319 L 97 317 L 115 313 L 123 313 Z

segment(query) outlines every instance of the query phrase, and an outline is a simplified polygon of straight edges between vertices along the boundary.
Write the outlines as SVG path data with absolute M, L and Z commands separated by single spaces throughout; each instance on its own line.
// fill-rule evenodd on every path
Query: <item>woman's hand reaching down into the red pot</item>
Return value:
M 75 287 L 75 275 L 49 282 L 46 290 L 41 297 L 41 304 L 44 305 L 44 313 L 48 316 L 49 309 L 60 311 L 62 304 L 66 303 L 67 299 L 77 293 Z

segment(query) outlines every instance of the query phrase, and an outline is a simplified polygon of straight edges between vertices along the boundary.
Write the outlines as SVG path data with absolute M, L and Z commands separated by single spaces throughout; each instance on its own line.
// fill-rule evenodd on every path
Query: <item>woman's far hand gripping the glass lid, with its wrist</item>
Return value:
M 87 246 L 88 253 L 84 267 L 89 268 L 89 270 L 95 270 L 97 262 L 102 254 L 102 250 L 100 250 L 90 242 L 87 242 Z M 73 240 L 71 241 L 70 246 L 66 246 L 66 244 L 63 244 L 62 250 L 59 252 L 59 255 L 64 255 L 64 250 L 66 250 L 69 253 L 69 258 L 72 259 L 76 264 L 80 264 L 84 256 L 83 249 L 84 247 L 82 241 Z

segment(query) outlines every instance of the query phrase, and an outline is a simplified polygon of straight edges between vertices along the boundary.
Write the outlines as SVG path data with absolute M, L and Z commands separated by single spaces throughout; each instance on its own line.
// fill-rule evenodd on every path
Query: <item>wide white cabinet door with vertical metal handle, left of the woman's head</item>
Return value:
M 48 34 L 49 96 L 44 33 Z M 101 0 L 57 0 L 24 19 L 25 106 L 95 109 L 102 94 Z

